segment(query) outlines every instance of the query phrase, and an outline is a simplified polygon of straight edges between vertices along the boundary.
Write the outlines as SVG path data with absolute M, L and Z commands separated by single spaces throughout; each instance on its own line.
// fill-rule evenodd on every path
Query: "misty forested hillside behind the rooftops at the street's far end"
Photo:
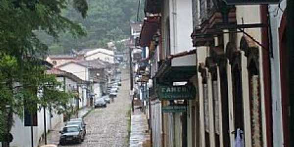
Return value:
M 139 0 L 88 0 L 89 10 L 83 19 L 73 7 L 63 12 L 64 16 L 82 25 L 87 36 L 73 38 L 69 32 L 60 33 L 53 40 L 40 32 L 39 38 L 49 46 L 49 54 L 69 53 L 71 49 L 102 48 L 109 41 L 127 38 L 130 21 L 137 20 Z M 141 0 L 139 20 L 144 16 L 144 0 Z

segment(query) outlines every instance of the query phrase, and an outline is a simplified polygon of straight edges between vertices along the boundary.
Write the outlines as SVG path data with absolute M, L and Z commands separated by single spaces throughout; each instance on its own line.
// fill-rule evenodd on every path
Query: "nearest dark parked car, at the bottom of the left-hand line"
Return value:
M 65 145 L 73 142 L 80 144 L 84 140 L 82 128 L 79 125 L 64 126 L 60 133 L 60 145 Z

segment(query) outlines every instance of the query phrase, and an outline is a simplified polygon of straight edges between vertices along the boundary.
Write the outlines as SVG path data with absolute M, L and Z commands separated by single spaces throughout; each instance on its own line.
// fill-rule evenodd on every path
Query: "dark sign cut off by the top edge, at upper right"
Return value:
M 223 0 L 227 4 L 272 4 L 279 3 L 281 0 Z

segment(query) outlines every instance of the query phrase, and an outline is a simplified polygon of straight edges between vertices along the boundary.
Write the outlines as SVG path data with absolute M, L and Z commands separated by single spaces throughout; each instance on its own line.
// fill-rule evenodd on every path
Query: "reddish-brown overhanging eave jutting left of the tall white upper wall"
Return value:
M 153 36 L 159 28 L 160 19 L 158 17 L 147 17 L 147 20 L 144 20 L 141 34 L 140 34 L 140 43 L 141 47 L 148 47 Z

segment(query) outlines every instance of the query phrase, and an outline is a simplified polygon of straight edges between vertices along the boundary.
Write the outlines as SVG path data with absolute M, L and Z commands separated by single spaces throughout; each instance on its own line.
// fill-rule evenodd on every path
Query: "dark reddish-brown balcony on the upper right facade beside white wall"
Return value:
M 199 0 L 199 12 L 194 13 L 194 30 L 191 34 L 194 47 L 206 46 L 214 41 L 213 36 L 222 34 L 222 27 L 236 24 L 234 6 L 222 0 Z M 197 20 L 197 14 L 199 19 Z

